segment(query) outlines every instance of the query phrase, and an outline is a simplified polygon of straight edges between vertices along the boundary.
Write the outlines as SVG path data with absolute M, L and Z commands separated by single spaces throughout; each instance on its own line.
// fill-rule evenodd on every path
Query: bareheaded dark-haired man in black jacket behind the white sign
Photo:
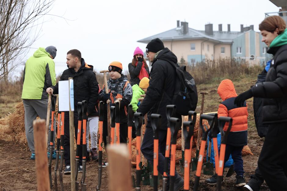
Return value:
M 88 102 L 87 115 L 94 116 L 98 115 L 97 101 L 99 96 L 99 86 L 96 79 L 96 74 L 93 72 L 93 66 L 85 63 L 82 58 L 81 52 L 72 49 L 67 52 L 67 67 L 61 75 L 60 81 L 68 80 L 69 77 L 73 78 L 74 81 L 74 128 L 75 137 L 77 141 L 78 132 L 78 112 L 77 103 L 86 100 Z M 56 86 L 47 88 L 48 94 L 59 93 L 59 83 Z M 97 108 L 97 109 L 96 109 Z M 82 133 L 83 131 L 81 131 Z M 82 135 L 81 135 L 82 137 Z M 82 138 L 80 141 L 80 161 L 79 161 L 79 172 L 82 170 Z M 70 123 L 69 123 L 69 112 L 65 111 L 64 115 L 64 159 L 66 169 L 64 174 L 71 173 L 71 161 L 70 161 Z

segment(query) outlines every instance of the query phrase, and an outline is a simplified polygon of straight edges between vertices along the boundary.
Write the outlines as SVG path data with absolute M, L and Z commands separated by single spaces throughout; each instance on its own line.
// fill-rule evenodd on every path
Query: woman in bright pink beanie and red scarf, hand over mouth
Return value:
M 131 76 L 131 86 L 139 85 L 143 77 L 149 77 L 149 69 L 146 60 L 143 58 L 143 51 L 136 47 L 133 52 L 133 60 L 129 63 L 129 75 Z

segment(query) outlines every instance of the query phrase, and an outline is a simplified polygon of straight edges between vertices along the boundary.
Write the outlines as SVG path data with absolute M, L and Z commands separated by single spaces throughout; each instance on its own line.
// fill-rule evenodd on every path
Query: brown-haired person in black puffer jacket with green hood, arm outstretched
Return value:
M 287 190 L 287 29 L 280 16 L 269 16 L 259 24 L 259 30 L 262 41 L 269 47 L 267 53 L 274 58 L 265 82 L 256 83 L 250 90 L 238 95 L 234 103 L 242 105 L 253 96 L 264 98 L 262 118 L 269 129 L 258 167 L 271 190 Z

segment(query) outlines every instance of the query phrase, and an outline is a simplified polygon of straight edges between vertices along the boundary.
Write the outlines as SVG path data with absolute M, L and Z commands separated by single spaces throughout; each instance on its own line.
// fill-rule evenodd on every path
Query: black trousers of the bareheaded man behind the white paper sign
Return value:
M 83 126 L 83 122 L 82 122 Z M 81 127 L 82 128 L 82 127 Z M 78 133 L 78 113 L 74 112 L 74 129 L 75 129 L 75 138 L 77 143 L 77 133 Z M 83 152 L 83 130 L 81 130 L 81 141 L 80 141 L 80 160 L 79 165 L 82 165 L 82 152 Z M 87 150 L 87 147 L 85 147 Z M 87 152 L 87 151 L 86 151 Z M 64 161 L 66 166 L 71 165 L 70 160 L 70 121 L 69 121 L 69 112 L 65 112 L 64 118 Z M 74 160 L 74 158 L 72 159 Z

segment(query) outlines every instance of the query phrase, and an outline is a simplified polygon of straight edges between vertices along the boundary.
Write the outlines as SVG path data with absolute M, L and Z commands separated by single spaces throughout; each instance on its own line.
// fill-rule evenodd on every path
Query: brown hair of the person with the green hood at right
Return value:
M 268 16 L 259 24 L 259 30 L 267 30 L 271 33 L 278 29 L 278 34 L 281 34 L 284 32 L 285 28 L 285 21 L 282 19 L 281 16 L 277 15 Z

